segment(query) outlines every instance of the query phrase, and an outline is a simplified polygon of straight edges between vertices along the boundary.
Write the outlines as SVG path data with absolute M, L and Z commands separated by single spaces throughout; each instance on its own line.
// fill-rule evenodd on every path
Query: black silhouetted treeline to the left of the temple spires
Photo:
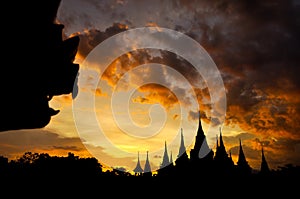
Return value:
M 97 178 L 99 176 L 129 176 L 121 169 L 103 171 L 94 157 L 82 158 L 69 152 L 68 156 L 51 156 L 48 153 L 25 152 L 15 160 L 0 156 L 0 176 L 9 178 Z

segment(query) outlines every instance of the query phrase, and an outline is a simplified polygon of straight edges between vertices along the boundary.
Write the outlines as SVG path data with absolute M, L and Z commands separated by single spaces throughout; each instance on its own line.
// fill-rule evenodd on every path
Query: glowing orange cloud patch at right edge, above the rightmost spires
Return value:
M 294 132 L 300 129 L 298 107 L 285 97 L 268 96 L 248 109 L 239 105 L 228 106 L 226 121 L 255 134 L 263 133 L 266 137 L 300 139 L 300 135 Z

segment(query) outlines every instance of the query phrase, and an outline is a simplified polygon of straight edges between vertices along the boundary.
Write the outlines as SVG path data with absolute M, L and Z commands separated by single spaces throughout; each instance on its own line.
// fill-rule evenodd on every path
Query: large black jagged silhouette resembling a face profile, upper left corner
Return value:
M 76 97 L 79 37 L 63 39 L 64 25 L 56 22 L 60 2 L 6 4 L 15 17 L 3 22 L 7 31 L 2 38 L 8 42 L 2 53 L 7 62 L 1 68 L 0 131 L 45 127 L 59 113 L 49 107 L 53 96 Z

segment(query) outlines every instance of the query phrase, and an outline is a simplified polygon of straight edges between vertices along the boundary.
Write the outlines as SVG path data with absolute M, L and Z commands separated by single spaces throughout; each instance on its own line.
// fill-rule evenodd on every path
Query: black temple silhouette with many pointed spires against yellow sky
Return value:
M 147 168 L 147 169 L 146 169 Z M 145 169 L 142 169 L 139 153 L 138 161 L 135 169 L 133 170 L 135 176 L 152 175 L 149 157 L 147 151 L 147 158 Z M 199 114 L 198 130 L 195 137 L 194 147 L 190 150 L 188 156 L 187 150 L 184 144 L 184 134 L 181 128 L 180 132 L 180 146 L 175 161 L 173 161 L 172 153 L 168 153 L 167 142 L 165 141 L 164 153 L 162 155 L 162 161 L 155 176 L 251 176 L 253 169 L 249 165 L 247 158 L 243 151 L 242 140 L 239 139 L 239 152 L 238 160 L 236 164 L 232 160 L 231 151 L 227 152 L 222 131 L 220 129 L 219 136 L 216 138 L 215 152 L 209 148 L 206 136 L 202 128 L 202 123 Z M 261 168 L 258 171 L 260 175 L 268 175 L 270 168 L 268 166 L 264 150 L 261 150 Z

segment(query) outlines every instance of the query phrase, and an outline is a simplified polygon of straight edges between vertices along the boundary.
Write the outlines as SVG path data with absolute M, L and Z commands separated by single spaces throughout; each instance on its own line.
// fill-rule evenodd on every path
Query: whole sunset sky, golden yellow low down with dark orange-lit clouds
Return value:
M 79 94 L 55 96 L 43 129 L 0 133 L 0 154 L 71 151 L 132 170 L 148 151 L 155 169 L 165 142 L 176 158 L 181 128 L 193 147 L 200 111 L 209 146 L 221 129 L 235 163 L 241 139 L 252 168 L 262 146 L 272 169 L 300 165 L 299 11 L 296 0 L 62 0 L 63 36 L 80 36 Z

